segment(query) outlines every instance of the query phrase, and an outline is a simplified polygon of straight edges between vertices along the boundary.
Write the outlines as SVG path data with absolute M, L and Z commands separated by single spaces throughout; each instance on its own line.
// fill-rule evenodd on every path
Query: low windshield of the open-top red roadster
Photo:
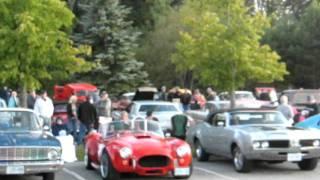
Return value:
M 121 131 L 149 132 L 164 137 L 159 123 L 150 120 L 134 120 L 128 123 L 124 121 L 113 121 L 107 125 L 106 136 L 114 135 Z

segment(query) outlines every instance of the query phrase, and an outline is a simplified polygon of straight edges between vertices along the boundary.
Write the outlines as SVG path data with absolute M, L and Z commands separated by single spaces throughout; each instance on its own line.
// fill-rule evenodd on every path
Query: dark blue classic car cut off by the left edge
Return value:
M 60 142 L 33 111 L 0 109 L 0 175 L 41 175 L 54 180 L 63 168 Z M 46 129 L 46 130 L 44 130 Z

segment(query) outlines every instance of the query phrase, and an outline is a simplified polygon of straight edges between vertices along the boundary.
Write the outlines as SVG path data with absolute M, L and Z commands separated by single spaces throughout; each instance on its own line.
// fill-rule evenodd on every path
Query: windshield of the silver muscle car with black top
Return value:
M 230 125 L 282 124 L 287 120 L 280 112 L 234 112 L 231 113 Z

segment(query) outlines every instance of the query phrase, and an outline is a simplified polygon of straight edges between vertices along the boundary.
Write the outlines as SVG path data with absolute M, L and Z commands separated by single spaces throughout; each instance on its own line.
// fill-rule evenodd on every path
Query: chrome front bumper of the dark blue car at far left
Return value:
M 64 162 L 58 161 L 30 161 L 30 162 L 1 162 L 0 175 L 24 175 L 24 174 L 42 174 L 59 171 L 63 168 Z M 19 167 L 19 172 L 12 172 L 10 167 Z M 23 167 L 23 171 L 21 171 Z

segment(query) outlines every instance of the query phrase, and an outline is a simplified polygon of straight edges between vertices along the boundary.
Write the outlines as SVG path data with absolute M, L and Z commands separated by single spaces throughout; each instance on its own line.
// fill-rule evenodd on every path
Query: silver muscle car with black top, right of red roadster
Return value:
M 233 159 L 238 172 L 249 172 L 254 161 L 297 163 L 301 170 L 316 168 L 320 133 L 288 125 L 274 110 L 235 109 L 208 116 L 187 132 L 199 161 L 214 154 Z

